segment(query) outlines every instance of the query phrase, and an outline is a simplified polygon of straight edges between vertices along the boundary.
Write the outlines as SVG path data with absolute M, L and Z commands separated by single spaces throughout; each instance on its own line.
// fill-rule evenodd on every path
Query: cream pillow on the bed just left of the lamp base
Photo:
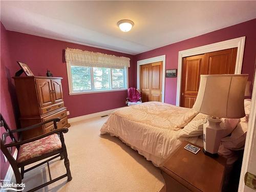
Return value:
M 207 122 L 209 116 L 199 113 L 180 131 L 180 137 L 195 137 L 203 135 L 203 124 Z

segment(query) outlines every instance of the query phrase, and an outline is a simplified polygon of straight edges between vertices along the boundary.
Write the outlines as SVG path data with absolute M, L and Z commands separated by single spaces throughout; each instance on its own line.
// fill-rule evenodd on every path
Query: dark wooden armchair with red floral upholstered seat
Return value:
M 45 187 L 65 177 L 68 177 L 68 181 L 72 180 L 67 148 L 64 142 L 64 137 L 63 137 L 63 133 L 67 133 L 69 130 L 64 127 L 62 127 L 61 129 L 57 129 L 57 122 L 60 120 L 59 118 L 50 119 L 48 121 L 38 123 L 32 126 L 28 126 L 22 129 L 10 130 L 3 116 L 1 114 L 0 116 L 1 116 L 0 117 L 1 127 L 4 126 L 6 130 L 6 133 L 3 134 L 3 139 L 1 139 L 1 151 L 9 161 L 10 165 L 12 166 L 17 184 L 22 183 L 22 179 L 24 178 L 24 173 L 29 172 L 30 170 L 45 163 L 47 163 L 47 166 L 48 166 L 50 181 L 44 184 L 41 184 L 28 191 L 38 190 L 42 187 Z M 17 141 L 14 137 L 15 133 L 32 130 L 35 127 L 41 126 L 49 122 L 53 122 L 54 129 L 55 129 L 50 133 L 40 135 L 31 139 L 23 140 L 23 141 Z M 12 142 L 9 144 L 5 144 L 8 136 L 12 139 Z M 11 155 L 12 147 L 16 147 L 18 150 L 18 155 L 16 160 Z M 55 179 L 52 179 L 49 161 L 57 157 L 60 157 L 60 159 L 64 159 L 64 164 L 67 169 L 67 173 Z M 46 159 L 46 160 L 30 168 L 25 169 L 26 165 L 35 163 L 37 161 L 41 161 L 43 159 Z M 19 168 L 20 168 L 20 171 L 19 171 Z

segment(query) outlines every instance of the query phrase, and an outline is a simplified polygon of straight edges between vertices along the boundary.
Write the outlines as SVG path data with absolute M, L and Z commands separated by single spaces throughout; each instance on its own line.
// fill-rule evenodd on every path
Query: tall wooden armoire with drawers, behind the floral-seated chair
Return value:
M 63 102 L 61 77 L 13 77 L 22 127 L 59 117 L 58 128 L 69 127 L 67 108 Z M 29 139 L 54 130 L 53 122 L 22 133 Z

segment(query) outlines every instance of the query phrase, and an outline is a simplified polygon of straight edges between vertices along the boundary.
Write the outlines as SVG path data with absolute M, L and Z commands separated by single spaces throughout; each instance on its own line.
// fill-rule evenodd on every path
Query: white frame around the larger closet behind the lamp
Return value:
M 234 74 L 241 74 L 242 71 L 242 62 L 244 55 L 244 44 L 245 36 L 238 37 L 234 39 L 229 39 L 225 41 L 216 42 L 214 44 L 209 44 L 201 47 L 196 47 L 192 49 L 187 49 L 179 51 L 179 60 L 178 60 L 178 75 L 177 75 L 177 95 L 176 95 L 176 105 L 180 106 L 180 91 L 181 91 L 181 79 L 182 79 L 182 58 L 199 55 L 203 53 L 209 53 L 213 51 L 220 51 L 224 49 L 238 48 L 237 60 L 236 60 L 236 69 Z

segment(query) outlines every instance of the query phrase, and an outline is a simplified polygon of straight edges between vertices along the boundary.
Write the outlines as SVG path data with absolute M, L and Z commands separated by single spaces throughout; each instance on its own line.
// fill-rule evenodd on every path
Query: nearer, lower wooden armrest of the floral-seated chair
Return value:
M 36 140 L 39 140 L 39 139 L 42 139 L 44 137 L 48 137 L 50 135 L 53 135 L 53 134 L 58 134 L 58 133 L 68 133 L 69 129 L 66 128 L 66 127 L 62 127 L 61 129 L 57 129 L 57 130 L 54 130 L 50 133 L 46 133 L 44 135 L 40 135 L 40 136 L 37 136 L 37 137 L 33 137 L 31 139 L 27 139 L 27 140 L 24 140 L 24 141 L 19 141 L 19 142 L 16 142 L 16 143 L 9 143 L 9 144 L 6 144 L 5 147 L 12 147 L 12 146 L 20 146 L 20 145 L 23 145 L 23 144 L 26 144 L 26 143 L 30 143 L 30 142 L 33 142 L 33 141 L 36 141 Z

